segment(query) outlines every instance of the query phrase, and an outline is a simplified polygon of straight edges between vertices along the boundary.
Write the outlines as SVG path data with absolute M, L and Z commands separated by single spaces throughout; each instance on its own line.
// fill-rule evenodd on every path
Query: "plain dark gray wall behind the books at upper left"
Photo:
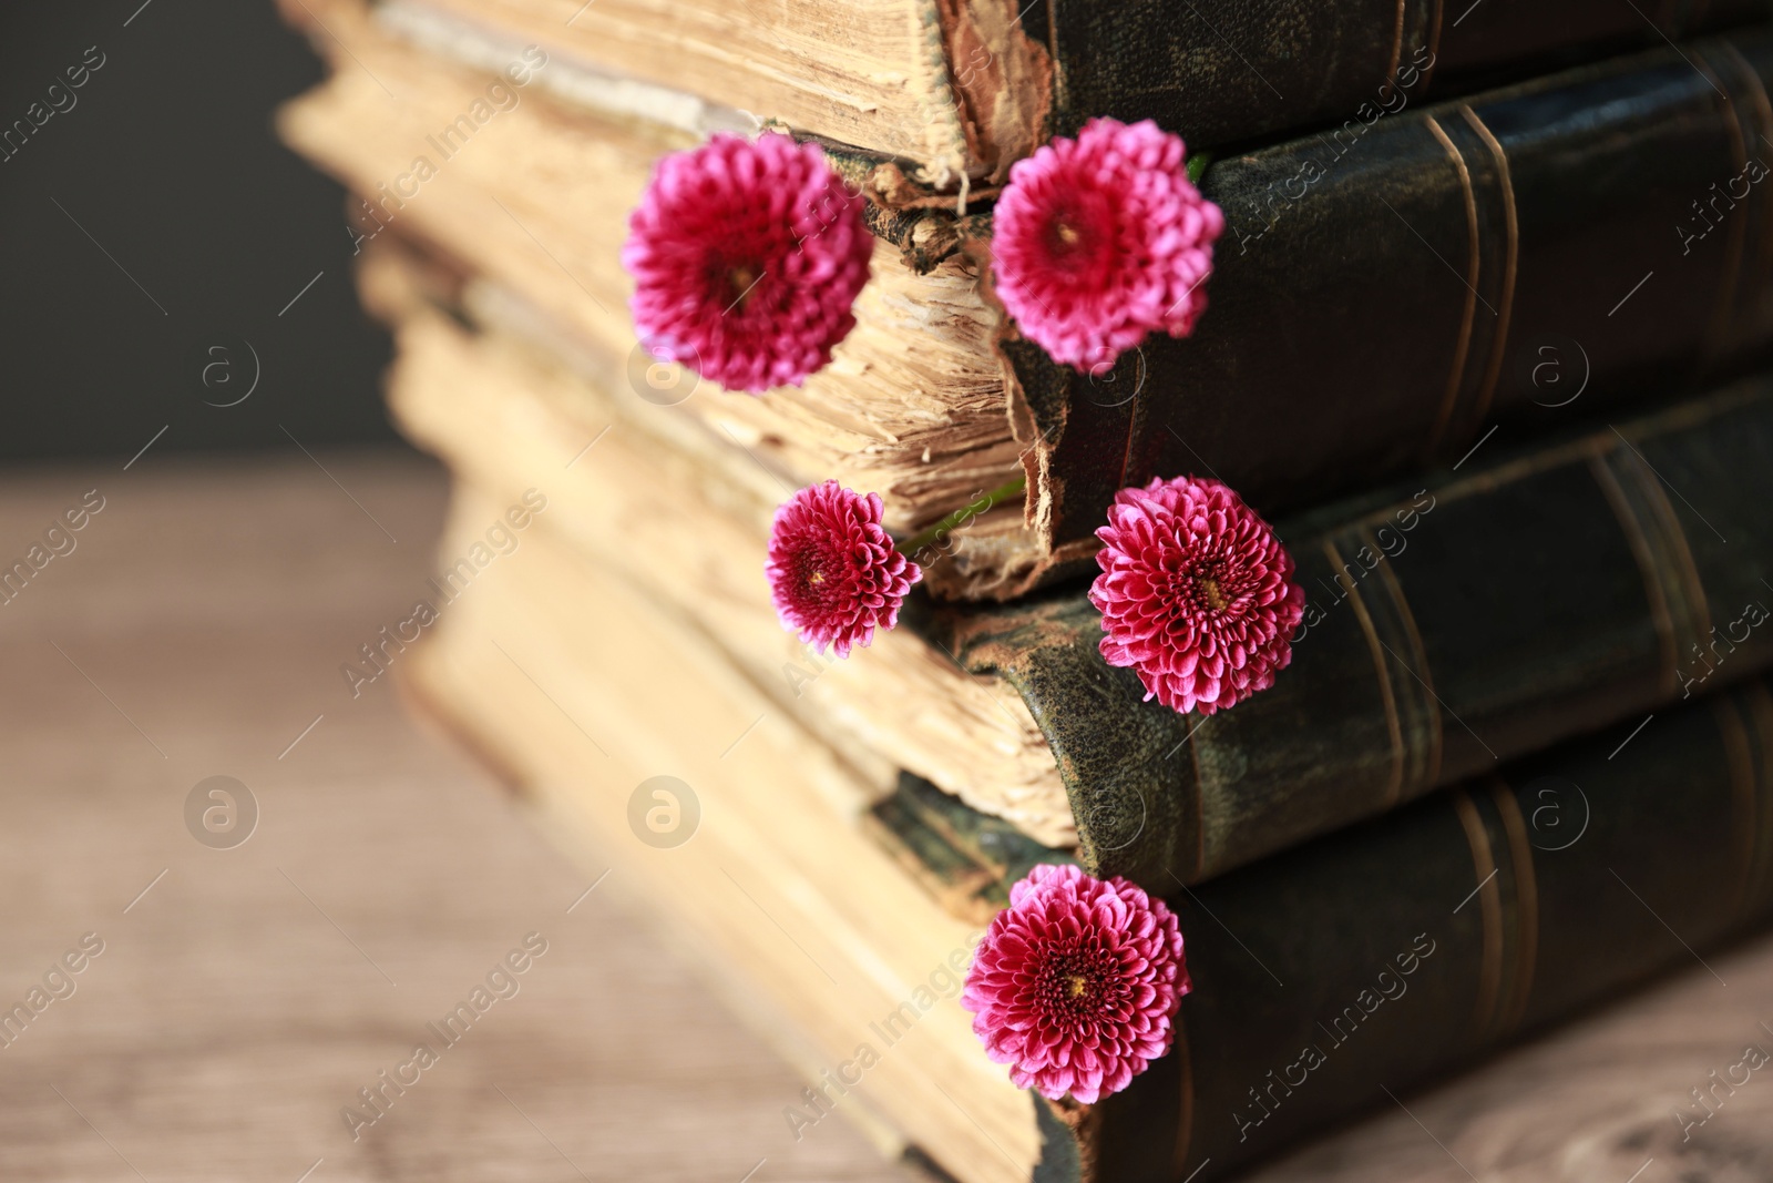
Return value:
M 0 7 L 0 459 L 394 440 L 342 190 L 271 131 L 319 78 L 271 0 Z

